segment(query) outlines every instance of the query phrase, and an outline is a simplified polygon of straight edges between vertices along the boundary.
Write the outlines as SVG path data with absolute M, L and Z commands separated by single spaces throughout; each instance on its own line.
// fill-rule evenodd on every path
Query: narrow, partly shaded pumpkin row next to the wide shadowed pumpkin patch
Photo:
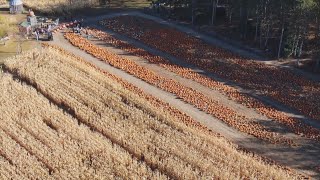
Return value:
M 179 74 L 182 77 L 192 79 L 195 82 L 202 84 L 203 86 L 218 90 L 224 93 L 225 95 L 227 95 L 232 100 L 238 103 L 241 103 L 248 108 L 254 108 L 260 114 L 265 115 L 268 118 L 276 120 L 277 122 L 285 125 L 295 134 L 303 135 L 305 137 L 315 139 L 315 140 L 320 139 L 320 132 L 318 129 L 308 126 L 299 120 L 291 118 L 287 116 L 285 113 L 278 111 L 275 108 L 250 97 L 249 95 L 240 93 L 236 88 L 224 85 L 223 83 L 215 81 L 214 79 L 203 76 L 193 71 L 192 69 L 184 68 L 184 67 L 172 64 L 169 60 L 163 57 L 153 55 L 143 49 L 137 48 L 124 41 L 115 39 L 113 36 L 103 31 L 99 31 L 96 29 L 89 29 L 88 31 L 90 32 L 90 34 L 94 35 L 100 40 L 107 42 L 108 44 L 111 44 L 124 51 L 130 52 L 133 55 L 142 57 L 151 63 L 158 64 L 159 66 L 171 72 Z

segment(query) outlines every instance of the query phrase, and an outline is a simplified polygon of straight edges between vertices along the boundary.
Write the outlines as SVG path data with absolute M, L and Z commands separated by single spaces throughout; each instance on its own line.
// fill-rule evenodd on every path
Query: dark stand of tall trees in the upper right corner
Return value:
M 272 57 L 309 57 L 318 59 L 319 67 L 320 0 L 159 0 L 152 4 L 167 17 L 194 26 L 223 26 L 225 35 L 236 34 L 236 39 Z

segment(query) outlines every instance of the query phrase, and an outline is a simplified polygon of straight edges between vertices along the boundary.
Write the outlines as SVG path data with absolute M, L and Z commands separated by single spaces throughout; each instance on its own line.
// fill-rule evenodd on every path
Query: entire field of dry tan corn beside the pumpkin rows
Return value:
M 0 83 L 1 179 L 297 178 L 51 48 L 7 59 Z

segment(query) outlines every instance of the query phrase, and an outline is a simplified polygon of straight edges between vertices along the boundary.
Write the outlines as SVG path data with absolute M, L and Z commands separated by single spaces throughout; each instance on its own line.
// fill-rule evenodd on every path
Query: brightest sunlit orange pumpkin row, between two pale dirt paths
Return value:
M 86 51 L 94 57 L 105 61 L 116 68 L 126 71 L 127 73 L 134 75 L 149 84 L 175 94 L 183 101 L 194 105 L 198 109 L 216 117 L 219 120 L 224 121 L 228 125 L 238 129 L 241 132 L 245 132 L 271 143 L 282 143 L 288 145 L 293 144 L 292 140 L 287 139 L 278 133 L 265 129 L 257 122 L 238 115 L 235 111 L 219 104 L 217 101 L 207 98 L 202 93 L 199 93 L 192 88 L 185 87 L 172 79 L 160 77 L 153 71 L 137 65 L 132 60 L 124 59 L 102 47 L 93 45 L 90 41 L 79 35 L 66 33 L 65 38 L 68 39 L 74 46 L 79 47 L 81 50 Z

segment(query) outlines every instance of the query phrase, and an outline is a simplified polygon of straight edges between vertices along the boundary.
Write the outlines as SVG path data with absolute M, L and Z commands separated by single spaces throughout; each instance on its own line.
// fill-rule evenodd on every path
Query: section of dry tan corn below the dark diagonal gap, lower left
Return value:
M 79 126 L 76 119 L 11 75 L 1 77 L 1 87 L 5 88 L 1 89 L 0 162 L 6 163 L 2 168 L 15 171 L 13 175 L 92 179 L 158 174 L 101 134 Z

